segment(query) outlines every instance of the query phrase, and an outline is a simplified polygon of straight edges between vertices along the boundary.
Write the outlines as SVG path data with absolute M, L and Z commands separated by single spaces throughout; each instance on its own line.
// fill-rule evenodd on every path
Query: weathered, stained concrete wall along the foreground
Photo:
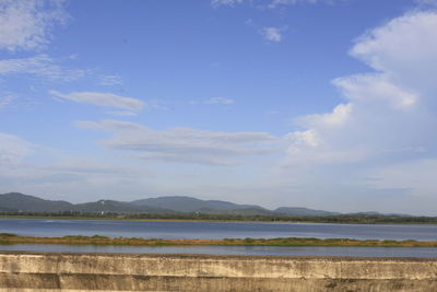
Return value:
M 0 252 L 3 291 L 437 291 L 437 259 Z

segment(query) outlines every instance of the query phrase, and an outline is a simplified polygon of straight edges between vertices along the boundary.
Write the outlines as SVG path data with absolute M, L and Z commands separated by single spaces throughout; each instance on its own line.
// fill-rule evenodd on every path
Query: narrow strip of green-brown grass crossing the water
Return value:
M 121 245 L 121 246 L 356 246 L 356 247 L 437 247 L 436 242 L 377 241 L 349 238 L 224 238 L 224 240 L 158 240 L 158 238 L 109 238 L 106 236 L 70 235 L 63 237 L 29 237 L 0 233 L 0 244 L 68 244 L 68 245 Z

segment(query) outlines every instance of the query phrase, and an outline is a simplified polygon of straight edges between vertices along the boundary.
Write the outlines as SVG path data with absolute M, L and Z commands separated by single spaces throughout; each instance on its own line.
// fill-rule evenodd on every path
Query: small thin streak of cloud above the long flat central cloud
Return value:
M 93 104 L 104 107 L 115 107 L 131 112 L 140 112 L 145 106 L 145 103 L 140 100 L 119 96 L 113 93 L 72 92 L 69 94 L 63 94 L 54 90 L 49 91 L 49 93 L 57 97 L 61 97 L 76 103 Z

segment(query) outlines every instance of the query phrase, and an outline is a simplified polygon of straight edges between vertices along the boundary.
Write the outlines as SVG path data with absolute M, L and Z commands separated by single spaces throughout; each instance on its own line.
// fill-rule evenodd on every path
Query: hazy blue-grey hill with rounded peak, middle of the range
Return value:
M 215 212 L 233 211 L 248 208 L 263 209 L 253 205 L 238 205 L 228 201 L 201 200 L 192 197 L 174 196 L 158 197 L 132 201 L 139 206 L 150 206 L 155 208 L 170 209 L 178 212 Z

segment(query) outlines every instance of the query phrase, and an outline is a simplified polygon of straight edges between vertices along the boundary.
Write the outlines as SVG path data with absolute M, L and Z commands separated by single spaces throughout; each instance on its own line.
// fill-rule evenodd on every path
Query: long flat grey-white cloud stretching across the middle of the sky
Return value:
M 121 120 L 78 121 L 86 129 L 109 131 L 102 143 L 110 149 L 134 151 L 144 160 L 227 165 L 239 159 L 271 153 L 277 139 L 265 132 L 213 132 L 192 128 L 156 131 Z

